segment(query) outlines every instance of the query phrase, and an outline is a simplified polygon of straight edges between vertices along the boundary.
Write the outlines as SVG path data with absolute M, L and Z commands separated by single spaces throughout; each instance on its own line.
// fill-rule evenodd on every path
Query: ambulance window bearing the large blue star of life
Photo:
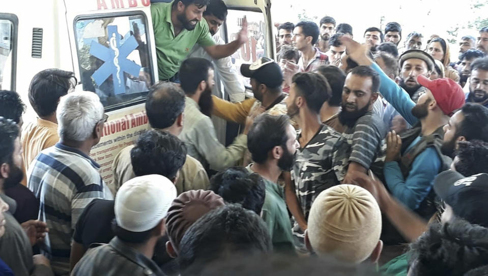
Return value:
M 154 83 L 144 14 L 75 19 L 83 90 L 95 92 L 106 110 L 146 99 Z

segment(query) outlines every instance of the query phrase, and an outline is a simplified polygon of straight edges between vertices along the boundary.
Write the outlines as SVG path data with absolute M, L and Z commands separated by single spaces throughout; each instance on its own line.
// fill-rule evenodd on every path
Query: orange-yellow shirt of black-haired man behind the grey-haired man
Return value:
M 24 150 L 24 168 L 29 171 L 29 165 L 37 157 L 41 150 L 58 143 L 58 125 L 51 121 L 37 118 L 22 131 L 22 147 Z M 26 177 L 28 178 L 28 177 Z

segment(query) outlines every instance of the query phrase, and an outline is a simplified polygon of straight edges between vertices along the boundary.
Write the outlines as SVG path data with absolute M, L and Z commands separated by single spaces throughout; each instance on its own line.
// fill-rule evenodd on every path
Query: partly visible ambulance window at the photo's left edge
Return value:
M 0 90 L 15 90 L 15 42 L 17 24 L 0 14 Z M 12 17 L 13 15 L 9 15 Z M 15 17 L 16 19 L 17 17 Z

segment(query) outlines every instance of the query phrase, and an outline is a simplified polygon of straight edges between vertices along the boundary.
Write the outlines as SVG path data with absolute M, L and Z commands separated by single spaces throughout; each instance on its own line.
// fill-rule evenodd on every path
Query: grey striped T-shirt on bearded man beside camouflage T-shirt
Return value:
M 382 156 L 386 126 L 374 111 L 360 117 L 353 128 L 342 133 L 351 146 L 349 162 L 357 162 L 366 169 Z

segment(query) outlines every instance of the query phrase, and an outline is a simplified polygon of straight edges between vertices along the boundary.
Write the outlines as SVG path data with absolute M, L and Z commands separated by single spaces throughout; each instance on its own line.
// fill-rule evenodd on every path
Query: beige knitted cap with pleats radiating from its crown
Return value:
M 313 202 L 307 231 L 315 253 L 360 263 L 371 255 L 380 239 L 380 207 L 365 189 L 337 185 L 320 193 Z

